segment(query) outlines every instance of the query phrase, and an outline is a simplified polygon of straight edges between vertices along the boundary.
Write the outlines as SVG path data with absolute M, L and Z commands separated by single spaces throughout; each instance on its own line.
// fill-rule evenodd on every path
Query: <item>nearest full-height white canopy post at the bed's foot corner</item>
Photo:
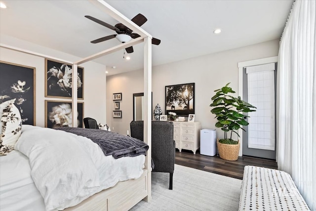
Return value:
M 145 167 L 148 169 L 148 196 L 145 198 L 146 202 L 151 200 L 151 143 L 152 143 L 152 39 L 147 37 L 144 39 L 144 98 L 145 98 L 145 109 L 144 109 L 144 141 L 149 145 L 147 151 L 147 157 L 145 161 Z

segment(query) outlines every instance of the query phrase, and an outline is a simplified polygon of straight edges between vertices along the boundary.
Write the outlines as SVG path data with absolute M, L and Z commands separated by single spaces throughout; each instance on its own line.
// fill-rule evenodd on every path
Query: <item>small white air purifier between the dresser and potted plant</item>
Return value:
M 201 129 L 200 154 L 208 156 L 216 155 L 216 129 Z

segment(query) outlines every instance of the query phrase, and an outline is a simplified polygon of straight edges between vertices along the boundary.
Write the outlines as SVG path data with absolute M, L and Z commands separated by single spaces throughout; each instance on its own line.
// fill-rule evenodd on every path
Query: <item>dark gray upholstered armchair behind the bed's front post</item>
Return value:
M 131 137 L 144 141 L 144 121 L 130 123 Z M 173 140 L 173 123 L 152 121 L 152 159 L 155 172 L 168 172 L 169 189 L 172 190 L 172 177 L 175 162 L 175 142 Z

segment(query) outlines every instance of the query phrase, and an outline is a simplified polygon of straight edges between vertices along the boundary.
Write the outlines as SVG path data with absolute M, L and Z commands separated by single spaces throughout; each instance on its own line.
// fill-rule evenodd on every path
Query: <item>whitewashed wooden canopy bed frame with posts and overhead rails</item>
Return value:
M 106 49 L 99 53 L 93 54 L 86 58 L 83 58 L 77 62 L 67 61 L 44 55 L 34 51 L 18 48 L 15 46 L 6 45 L 0 43 L 0 47 L 39 56 L 42 58 L 48 58 L 73 64 L 72 82 L 73 87 L 77 87 L 77 72 L 78 65 L 91 61 L 95 58 L 113 53 L 115 51 L 127 48 L 129 46 L 144 42 L 144 142 L 149 145 L 151 149 L 151 102 L 152 102 L 152 36 L 136 25 L 134 22 L 126 18 L 115 8 L 110 6 L 104 0 L 93 1 L 93 3 L 105 11 L 108 15 L 116 19 L 118 22 L 124 24 L 130 28 L 134 33 L 139 34 L 141 37 L 133 39 L 129 42 L 119 44 L 115 47 Z M 77 117 L 77 88 L 72 89 L 72 112 L 73 117 Z M 77 121 L 73 121 L 73 127 L 77 127 Z M 65 211 L 82 211 L 82 210 L 94 210 L 94 211 L 127 211 L 136 205 L 139 201 L 145 199 L 149 202 L 151 200 L 151 150 L 147 151 L 145 160 L 145 169 L 143 174 L 138 179 L 130 179 L 127 181 L 118 182 L 114 187 L 103 190 L 93 196 L 87 198 L 77 206 L 67 208 Z

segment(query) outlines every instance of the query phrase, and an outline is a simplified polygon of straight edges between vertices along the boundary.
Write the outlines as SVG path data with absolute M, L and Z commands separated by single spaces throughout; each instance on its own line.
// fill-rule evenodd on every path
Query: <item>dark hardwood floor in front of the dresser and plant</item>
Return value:
M 258 166 L 270 169 L 277 169 L 277 163 L 273 160 L 242 156 L 237 161 L 226 161 L 219 156 L 196 155 L 192 151 L 176 149 L 175 163 L 194 169 L 209 171 L 212 173 L 242 179 L 245 166 Z

